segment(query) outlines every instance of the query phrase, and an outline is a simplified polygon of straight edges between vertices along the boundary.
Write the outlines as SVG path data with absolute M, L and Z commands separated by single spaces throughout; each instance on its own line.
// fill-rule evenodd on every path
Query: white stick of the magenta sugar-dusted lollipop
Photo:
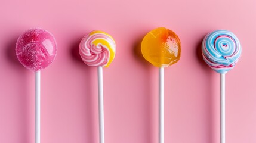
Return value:
M 36 71 L 35 143 L 40 143 L 40 71 Z

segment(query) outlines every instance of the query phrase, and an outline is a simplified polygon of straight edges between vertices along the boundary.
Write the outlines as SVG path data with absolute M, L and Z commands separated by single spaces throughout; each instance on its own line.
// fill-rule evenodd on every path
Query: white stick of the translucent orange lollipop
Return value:
M 164 143 L 164 67 L 159 67 L 159 143 Z

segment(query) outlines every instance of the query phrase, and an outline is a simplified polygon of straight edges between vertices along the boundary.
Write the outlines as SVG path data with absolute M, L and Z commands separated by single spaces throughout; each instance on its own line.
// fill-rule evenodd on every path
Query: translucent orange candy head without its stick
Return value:
M 168 67 L 180 60 L 180 39 L 169 29 L 157 28 L 143 38 L 143 57 L 156 67 Z

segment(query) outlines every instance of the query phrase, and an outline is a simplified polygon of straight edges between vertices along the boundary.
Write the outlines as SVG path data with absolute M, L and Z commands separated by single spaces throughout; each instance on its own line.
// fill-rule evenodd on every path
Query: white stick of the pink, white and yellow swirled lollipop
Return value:
M 98 117 L 100 126 L 100 143 L 104 143 L 104 100 L 103 100 L 103 70 L 98 66 Z

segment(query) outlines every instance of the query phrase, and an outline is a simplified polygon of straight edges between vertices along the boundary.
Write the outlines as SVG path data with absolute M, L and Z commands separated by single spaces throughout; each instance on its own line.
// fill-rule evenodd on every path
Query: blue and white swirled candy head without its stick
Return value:
M 241 56 L 238 38 L 227 30 L 215 30 L 205 36 L 202 42 L 203 60 L 217 73 L 233 69 Z

